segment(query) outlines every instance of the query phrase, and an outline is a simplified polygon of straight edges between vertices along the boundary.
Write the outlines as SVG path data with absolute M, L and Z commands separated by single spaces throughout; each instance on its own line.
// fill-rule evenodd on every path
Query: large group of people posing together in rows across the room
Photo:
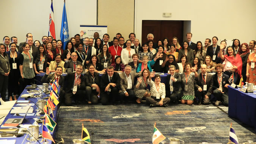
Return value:
M 228 105 L 228 85 L 243 81 L 256 84 L 256 41 L 240 44 L 234 39 L 218 45 L 218 38 L 207 38 L 203 43 L 192 42 L 192 33 L 186 41 L 154 41 L 140 44 L 135 33 L 129 39 L 117 33 L 113 41 L 95 32 L 93 38 L 83 38 L 83 31 L 70 39 L 63 48 L 61 40 L 43 36 L 42 44 L 26 35 L 26 42 L 17 45 L 15 36 L 3 38 L 0 44 L 0 94 L 16 100 L 27 85 L 35 83 L 35 76 L 46 73 L 42 83 L 55 81 L 60 86 L 60 102 L 72 105 L 116 105 L 118 101 L 141 103 L 145 99 L 150 107 L 170 104 L 209 104 L 212 95 L 215 105 Z M 157 42 L 157 43 L 155 43 Z M 212 43 L 212 45 L 211 45 Z M 68 72 L 62 76 L 64 72 Z M 166 83 L 160 75 L 168 73 Z M 213 75 L 213 73 L 215 74 Z M 52 73 L 52 74 L 51 74 Z M 153 81 L 154 80 L 154 81 Z

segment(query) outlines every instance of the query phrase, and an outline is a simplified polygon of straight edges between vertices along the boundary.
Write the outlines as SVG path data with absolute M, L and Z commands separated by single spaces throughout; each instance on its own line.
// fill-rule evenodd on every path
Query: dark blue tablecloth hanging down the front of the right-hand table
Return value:
M 256 94 L 228 86 L 228 115 L 254 127 L 256 131 Z

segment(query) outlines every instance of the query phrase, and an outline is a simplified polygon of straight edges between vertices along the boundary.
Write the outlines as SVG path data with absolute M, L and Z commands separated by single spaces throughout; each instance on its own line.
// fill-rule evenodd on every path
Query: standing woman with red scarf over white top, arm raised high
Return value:
M 220 45 L 219 56 L 224 61 L 222 64 L 224 66 L 224 74 L 229 77 L 233 74 L 233 83 L 239 83 L 240 78 L 242 77 L 242 58 L 240 55 L 236 55 L 234 47 L 227 48 L 227 55 L 223 55 L 223 49 L 225 45 Z M 239 80 L 237 80 L 239 79 Z

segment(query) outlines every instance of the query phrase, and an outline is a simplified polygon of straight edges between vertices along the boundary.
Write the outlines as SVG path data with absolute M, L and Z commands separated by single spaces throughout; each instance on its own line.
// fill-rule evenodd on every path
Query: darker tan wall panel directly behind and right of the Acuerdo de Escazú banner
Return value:
M 125 40 L 133 33 L 134 0 L 98 0 L 98 25 L 107 25 L 110 40 L 121 33 Z

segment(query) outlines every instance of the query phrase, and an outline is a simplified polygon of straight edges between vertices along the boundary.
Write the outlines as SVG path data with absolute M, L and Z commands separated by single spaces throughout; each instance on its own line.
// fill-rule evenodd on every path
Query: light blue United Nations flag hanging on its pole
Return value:
M 68 31 L 68 20 L 67 20 L 65 2 L 64 2 L 64 6 L 63 6 L 63 13 L 62 13 L 60 39 L 61 39 L 62 44 L 63 44 L 63 49 L 66 49 L 66 44 L 69 41 L 69 31 Z

